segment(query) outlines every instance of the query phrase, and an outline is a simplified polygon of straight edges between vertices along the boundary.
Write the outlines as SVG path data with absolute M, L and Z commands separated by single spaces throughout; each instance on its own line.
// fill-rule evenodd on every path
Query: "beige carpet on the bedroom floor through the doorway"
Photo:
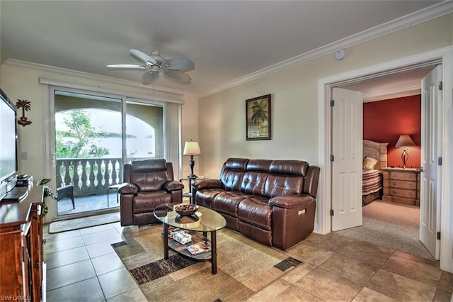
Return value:
M 434 260 L 419 237 L 420 208 L 373 201 L 362 208 L 362 226 L 335 233 Z

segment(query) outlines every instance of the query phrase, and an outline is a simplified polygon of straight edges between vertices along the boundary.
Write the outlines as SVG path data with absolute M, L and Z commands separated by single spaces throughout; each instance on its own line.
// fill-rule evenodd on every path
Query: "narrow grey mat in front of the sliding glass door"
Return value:
M 84 218 L 74 218 L 68 220 L 59 220 L 49 225 L 49 233 L 60 233 L 68 230 L 79 230 L 81 228 L 89 228 L 96 225 L 105 225 L 107 223 L 116 223 L 120 221 L 120 212 L 107 213 Z

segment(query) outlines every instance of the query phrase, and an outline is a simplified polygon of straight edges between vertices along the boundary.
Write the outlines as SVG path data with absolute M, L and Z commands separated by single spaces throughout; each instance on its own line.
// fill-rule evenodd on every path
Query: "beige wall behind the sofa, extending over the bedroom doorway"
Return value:
M 318 164 L 318 79 L 453 45 L 453 16 L 420 23 L 199 100 L 200 173 L 217 178 L 228 157 Z M 278 48 L 278 47 L 277 47 Z M 245 100 L 272 95 L 272 140 L 246 141 Z

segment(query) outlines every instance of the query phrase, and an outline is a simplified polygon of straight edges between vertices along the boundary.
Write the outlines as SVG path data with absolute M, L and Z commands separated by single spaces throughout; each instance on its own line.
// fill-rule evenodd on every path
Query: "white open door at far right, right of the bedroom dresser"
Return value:
M 435 259 L 440 259 L 440 167 L 442 150 L 440 140 L 442 121 L 442 65 L 438 65 L 422 80 L 422 133 L 421 159 L 423 172 L 420 174 L 420 241 Z

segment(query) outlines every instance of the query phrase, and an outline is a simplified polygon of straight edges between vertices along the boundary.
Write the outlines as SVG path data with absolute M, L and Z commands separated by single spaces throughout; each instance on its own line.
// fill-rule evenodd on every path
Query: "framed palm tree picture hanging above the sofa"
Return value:
M 246 100 L 246 140 L 270 140 L 270 94 Z

